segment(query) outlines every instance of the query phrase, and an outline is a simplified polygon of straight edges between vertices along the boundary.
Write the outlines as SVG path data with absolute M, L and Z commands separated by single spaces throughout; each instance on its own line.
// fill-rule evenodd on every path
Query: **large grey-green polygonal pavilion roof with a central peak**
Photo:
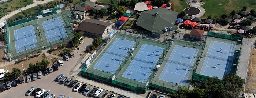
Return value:
M 177 16 L 178 12 L 159 7 L 142 12 L 136 24 L 150 32 L 162 34 L 164 27 L 174 26 Z

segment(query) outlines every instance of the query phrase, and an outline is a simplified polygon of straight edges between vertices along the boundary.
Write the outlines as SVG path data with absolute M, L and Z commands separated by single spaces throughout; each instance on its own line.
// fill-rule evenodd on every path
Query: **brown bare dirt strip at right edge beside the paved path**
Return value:
M 255 88 L 256 88 L 256 50 L 254 48 L 251 48 L 245 90 L 248 89 L 248 93 L 256 93 Z

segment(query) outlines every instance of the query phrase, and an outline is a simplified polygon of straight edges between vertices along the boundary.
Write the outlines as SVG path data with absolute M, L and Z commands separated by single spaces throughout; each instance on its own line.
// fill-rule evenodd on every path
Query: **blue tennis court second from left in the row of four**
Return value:
M 123 73 L 123 77 L 145 83 L 164 48 L 143 44 Z

